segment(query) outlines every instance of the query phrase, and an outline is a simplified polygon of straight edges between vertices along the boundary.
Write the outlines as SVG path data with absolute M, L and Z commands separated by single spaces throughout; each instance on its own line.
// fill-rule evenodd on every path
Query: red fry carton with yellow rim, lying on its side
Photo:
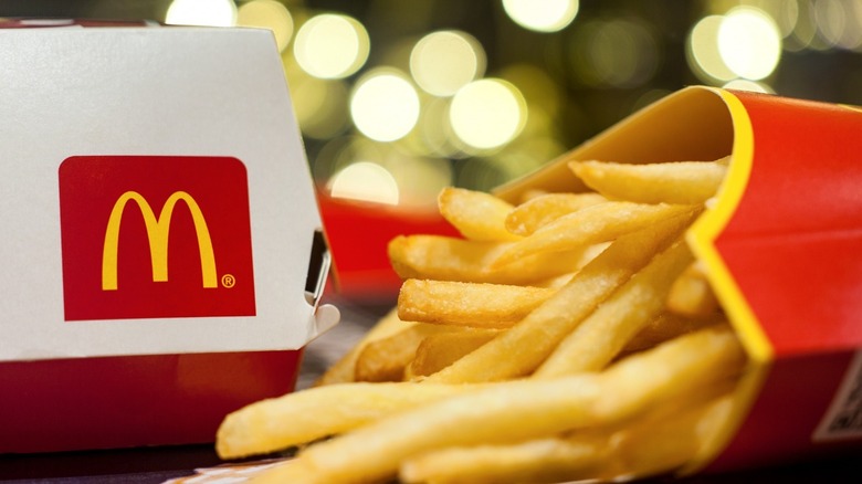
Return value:
M 862 443 L 862 111 L 693 86 L 503 187 L 571 191 L 570 160 L 715 160 L 723 188 L 686 234 L 750 365 L 719 445 L 693 469 Z

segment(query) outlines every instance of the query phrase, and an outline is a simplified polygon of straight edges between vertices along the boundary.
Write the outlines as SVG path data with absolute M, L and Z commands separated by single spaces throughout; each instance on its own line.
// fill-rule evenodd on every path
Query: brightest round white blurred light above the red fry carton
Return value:
M 769 76 L 781 57 L 781 35 L 763 10 L 737 7 L 718 28 L 718 52 L 738 77 L 759 81 Z

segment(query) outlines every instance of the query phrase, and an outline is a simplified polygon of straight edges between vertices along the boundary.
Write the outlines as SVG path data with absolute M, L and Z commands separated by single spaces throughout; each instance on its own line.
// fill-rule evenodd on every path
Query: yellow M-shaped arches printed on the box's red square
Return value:
M 111 210 L 107 229 L 105 229 L 105 244 L 102 250 L 102 290 L 116 291 L 117 288 L 117 250 L 119 245 L 119 224 L 123 221 L 123 211 L 126 203 L 134 201 L 140 208 L 144 223 L 147 228 L 149 241 L 149 255 L 153 265 L 153 282 L 168 280 L 168 234 L 170 232 L 170 218 L 174 207 L 178 201 L 185 201 L 191 212 L 195 222 L 195 233 L 198 236 L 198 251 L 200 253 L 201 275 L 203 287 L 217 287 L 216 255 L 212 251 L 212 239 L 207 227 L 207 220 L 200 211 L 195 199 L 185 191 L 175 191 L 165 202 L 158 217 L 153 212 L 149 202 L 136 191 L 123 193 Z

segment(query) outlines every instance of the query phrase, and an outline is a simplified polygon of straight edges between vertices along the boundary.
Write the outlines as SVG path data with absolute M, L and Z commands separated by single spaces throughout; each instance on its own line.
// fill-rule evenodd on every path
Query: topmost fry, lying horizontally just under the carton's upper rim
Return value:
M 640 203 L 703 203 L 715 196 L 727 172 L 726 162 L 716 161 L 649 165 L 572 161 L 569 167 L 599 193 Z

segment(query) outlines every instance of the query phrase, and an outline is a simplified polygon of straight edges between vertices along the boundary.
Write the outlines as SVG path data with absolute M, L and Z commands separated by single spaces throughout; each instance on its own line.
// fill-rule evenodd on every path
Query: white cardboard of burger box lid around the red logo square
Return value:
M 320 229 L 269 31 L 0 30 L 0 361 L 296 349 Z M 248 169 L 256 316 L 64 322 L 57 168 L 75 155 L 229 156 Z

